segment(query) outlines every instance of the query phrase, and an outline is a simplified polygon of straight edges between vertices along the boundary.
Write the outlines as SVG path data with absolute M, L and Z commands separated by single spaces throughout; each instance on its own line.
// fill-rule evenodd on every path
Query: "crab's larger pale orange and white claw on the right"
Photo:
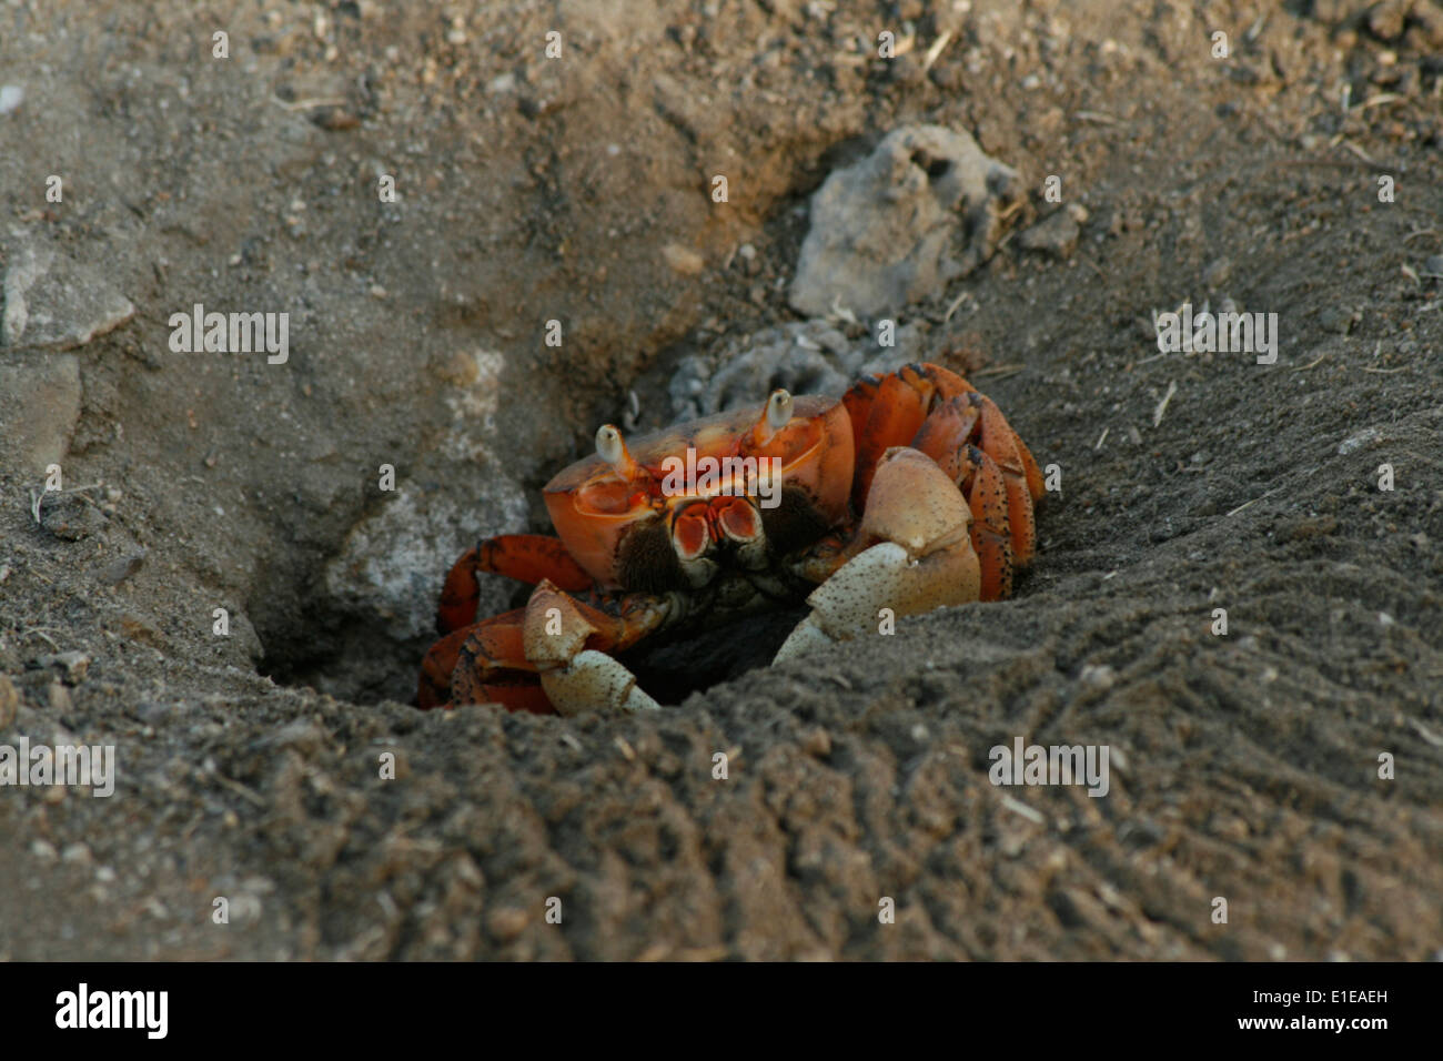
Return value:
M 937 463 L 906 446 L 877 462 L 850 559 L 821 583 L 776 661 L 879 629 L 883 608 L 918 615 L 977 601 L 981 570 L 971 511 Z

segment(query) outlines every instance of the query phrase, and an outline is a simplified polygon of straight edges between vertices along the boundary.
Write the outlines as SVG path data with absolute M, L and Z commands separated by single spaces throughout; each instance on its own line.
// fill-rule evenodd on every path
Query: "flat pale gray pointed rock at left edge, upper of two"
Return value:
M 0 346 L 84 346 L 136 313 L 97 267 L 72 261 L 25 230 L 10 230 L 6 251 L 10 266 L 4 274 Z

